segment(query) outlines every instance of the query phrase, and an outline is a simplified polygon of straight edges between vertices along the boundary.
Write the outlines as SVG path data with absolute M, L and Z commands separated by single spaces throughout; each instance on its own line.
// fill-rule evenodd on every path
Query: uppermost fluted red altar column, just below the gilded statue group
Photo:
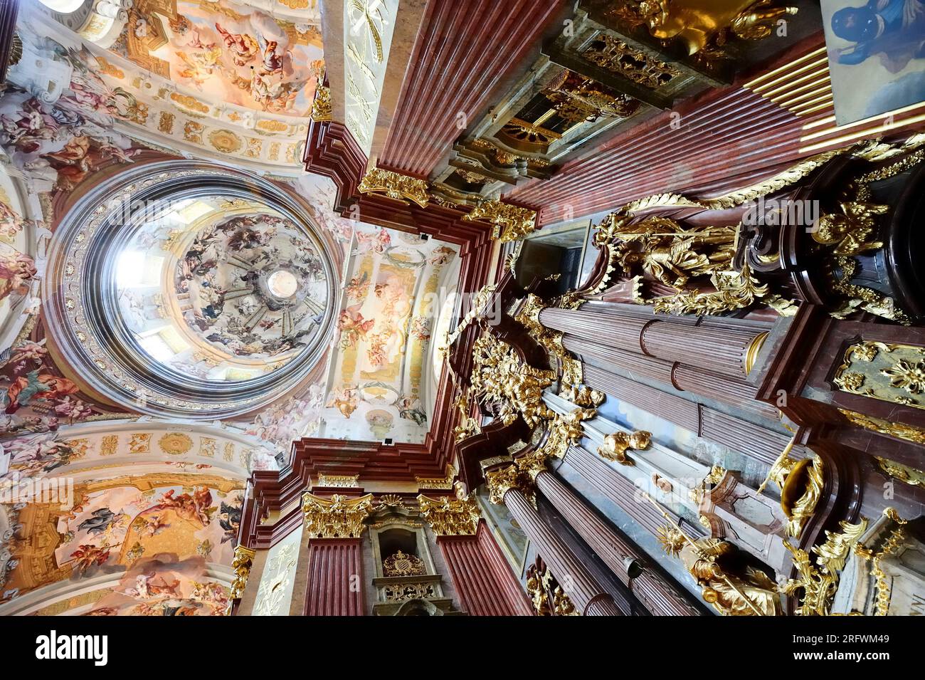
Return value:
M 678 362 L 711 373 L 745 377 L 748 350 L 761 330 L 716 320 L 695 325 L 689 321 L 622 314 L 619 307 L 548 308 L 540 322 L 571 335 L 626 352 Z

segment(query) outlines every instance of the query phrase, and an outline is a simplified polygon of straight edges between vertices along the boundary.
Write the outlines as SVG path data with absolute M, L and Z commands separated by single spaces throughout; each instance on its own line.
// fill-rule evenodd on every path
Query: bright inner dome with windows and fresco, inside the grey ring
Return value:
M 170 208 L 119 254 L 119 307 L 142 348 L 221 381 L 272 372 L 314 340 L 327 276 L 297 225 L 259 201 L 204 197 Z

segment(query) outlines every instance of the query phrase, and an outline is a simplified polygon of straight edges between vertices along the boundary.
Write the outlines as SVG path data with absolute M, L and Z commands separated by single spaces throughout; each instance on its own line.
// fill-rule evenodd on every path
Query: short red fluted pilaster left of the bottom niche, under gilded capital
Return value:
M 306 616 L 363 616 L 363 562 L 359 538 L 308 542 Z

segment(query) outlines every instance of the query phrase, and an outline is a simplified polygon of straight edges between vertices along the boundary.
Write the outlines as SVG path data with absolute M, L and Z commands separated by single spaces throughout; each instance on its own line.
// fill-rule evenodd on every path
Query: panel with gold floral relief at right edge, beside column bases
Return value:
M 925 408 L 925 347 L 855 342 L 845 350 L 833 383 L 843 392 Z

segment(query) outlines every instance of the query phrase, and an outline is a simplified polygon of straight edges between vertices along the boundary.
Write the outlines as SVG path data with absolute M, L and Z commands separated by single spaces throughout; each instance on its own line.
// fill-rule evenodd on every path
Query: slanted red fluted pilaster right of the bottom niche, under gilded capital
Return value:
M 475 536 L 438 536 L 462 609 L 472 616 L 532 616 L 533 607 L 484 521 Z

